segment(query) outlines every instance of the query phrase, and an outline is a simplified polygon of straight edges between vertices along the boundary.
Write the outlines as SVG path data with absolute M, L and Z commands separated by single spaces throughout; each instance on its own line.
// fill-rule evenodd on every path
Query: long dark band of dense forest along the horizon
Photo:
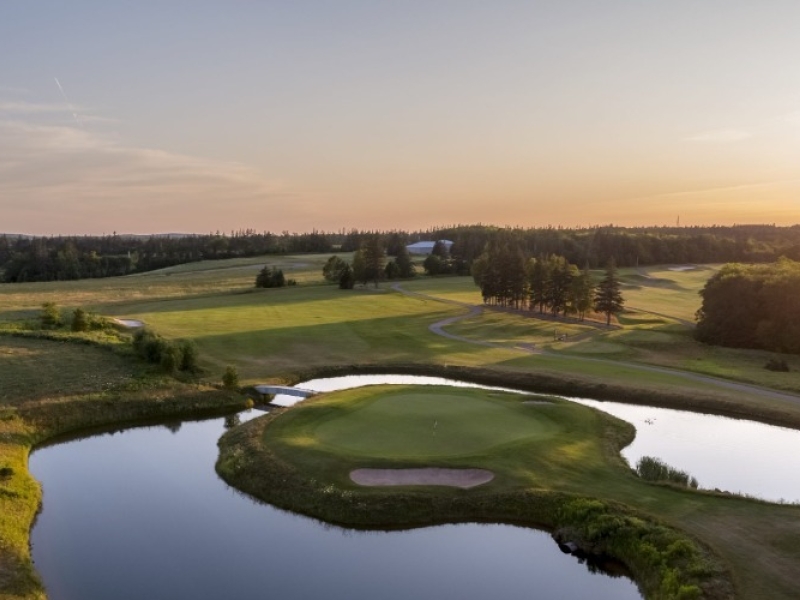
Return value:
M 498 228 L 457 225 L 425 231 L 258 233 L 247 229 L 204 235 L 57 236 L 0 235 L 3 282 L 110 277 L 208 259 L 301 252 L 352 252 L 379 236 L 386 252 L 419 240 L 449 239 L 451 271 L 468 273 L 497 235 L 510 236 L 525 256 L 557 255 L 589 268 L 663 263 L 800 260 L 800 226 Z M 446 271 L 445 271 L 446 272 Z

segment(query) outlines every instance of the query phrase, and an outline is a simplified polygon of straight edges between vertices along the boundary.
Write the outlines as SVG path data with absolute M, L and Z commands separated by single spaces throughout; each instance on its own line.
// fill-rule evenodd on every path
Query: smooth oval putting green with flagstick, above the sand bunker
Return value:
M 318 446 L 384 459 L 478 454 L 522 440 L 556 435 L 560 426 L 519 397 L 469 390 L 387 390 L 317 422 L 303 438 Z

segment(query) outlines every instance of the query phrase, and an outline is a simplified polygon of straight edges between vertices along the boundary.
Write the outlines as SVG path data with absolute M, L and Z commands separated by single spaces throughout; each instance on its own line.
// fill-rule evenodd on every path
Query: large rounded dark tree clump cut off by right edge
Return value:
M 700 295 L 695 337 L 701 342 L 800 354 L 800 263 L 727 264 Z

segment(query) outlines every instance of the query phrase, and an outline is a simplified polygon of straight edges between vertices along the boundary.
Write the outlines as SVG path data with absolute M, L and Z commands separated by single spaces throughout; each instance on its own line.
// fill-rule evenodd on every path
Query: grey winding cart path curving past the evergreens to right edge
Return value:
M 463 315 L 456 315 L 455 317 L 448 317 L 447 319 L 442 319 L 441 321 L 437 321 L 436 323 L 432 323 L 428 326 L 428 330 L 435 334 L 442 337 L 446 337 L 451 340 L 465 342 L 467 344 L 474 344 L 478 346 L 485 346 L 490 348 L 504 348 L 506 350 L 516 350 L 518 352 L 526 352 L 528 354 L 541 354 L 547 355 L 548 358 L 555 358 L 559 360 L 568 360 L 573 362 L 592 362 L 592 363 L 600 363 L 600 364 L 607 364 L 607 365 L 622 365 L 624 367 L 630 369 L 636 369 L 639 371 L 644 371 L 648 373 L 659 373 L 664 375 L 671 375 L 674 377 L 679 377 L 682 379 L 696 381 L 699 383 L 709 384 L 718 388 L 731 390 L 735 392 L 741 392 L 746 394 L 753 394 L 755 396 L 760 396 L 762 398 L 770 398 L 772 400 L 781 400 L 784 402 L 790 402 L 793 404 L 800 405 L 800 396 L 797 394 L 792 394 L 789 392 L 780 392 L 778 390 L 772 390 L 769 388 L 763 388 L 757 385 L 749 384 L 749 383 L 738 383 L 735 381 L 730 381 L 728 379 L 721 379 L 719 377 L 713 377 L 711 375 L 701 375 L 699 373 L 692 373 L 690 371 L 680 371 L 678 369 L 670 369 L 667 367 L 657 367 L 653 365 L 643 365 L 640 363 L 633 363 L 621 360 L 608 360 L 604 358 L 592 358 L 588 356 L 565 356 L 563 354 L 559 354 L 557 352 L 553 352 L 546 349 L 535 348 L 533 345 L 523 345 L 523 344 L 508 344 L 502 342 L 486 342 L 482 340 L 473 340 L 470 338 L 466 338 L 464 336 L 456 335 L 454 333 L 450 333 L 445 331 L 444 328 L 456 323 L 458 321 L 462 321 L 464 319 L 471 319 L 473 317 L 477 317 L 481 315 L 484 311 L 484 306 L 482 305 L 475 305 L 470 304 L 468 302 L 461 302 L 459 300 L 451 300 L 449 298 L 440 298 L 438 296 L 432 296 L 430 294 L 423 294 L 421 292 L 411 292 L 405 290 L 401 287 L 399 283 L 392 284 L 392 289 L 398 293 L 404 294 L 406 296 L 411 296 L 415 298 L 420 298 L 423 300 L 431 300 L 434 302 L 441 302 L 444 304 L 451 304 L 454 306 L 460 306 L 462 308 L 468 309 L 468 312 Z M 536 313 L 532 313 L 530 315 L 531 318 L 538 318 Z

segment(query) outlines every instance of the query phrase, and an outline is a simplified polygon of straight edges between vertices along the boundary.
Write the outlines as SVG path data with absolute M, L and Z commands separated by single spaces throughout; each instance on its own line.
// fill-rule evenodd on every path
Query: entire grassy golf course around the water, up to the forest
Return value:
M 441 375 L 530 395 L 413 386 L 322 394 L 231 429 L 219 474 L 271 504 L 351 527 L 544 527 L 622 560 L 648 598 L 800 595 L 800 507 L 645 482 L 619 454 L 632 426 L 555 397 L 800 428 L 797 357 L 693 339 L 698 292 L 716 266 L 621 269 L 626 311 L 605 327 L 592 315 L 484 307 L 469 277 L 340 290 L 322 279 L 327 259 L 203 261 L 0 287 L 0 598 L 46 597 L 28 541 L 42 502 L 27 471 L 34 447 L 90 427 L 231 413 L 252 402 L 240 392 L 253 385 L 351 373 Z M 265 263 L 297 285 L 255 288 Z M 191 342 L 199 369 L 173 377 L 145 364 L 124 327 L 42 330 L 45 303 L 65 321 L 82 308 Z M 788 372 L 764 369 L 775 356 Z M 236 389 L 222 385 L 227 368 Z M 353 473 L 364 469 L 491 478 L 363 485 Z

